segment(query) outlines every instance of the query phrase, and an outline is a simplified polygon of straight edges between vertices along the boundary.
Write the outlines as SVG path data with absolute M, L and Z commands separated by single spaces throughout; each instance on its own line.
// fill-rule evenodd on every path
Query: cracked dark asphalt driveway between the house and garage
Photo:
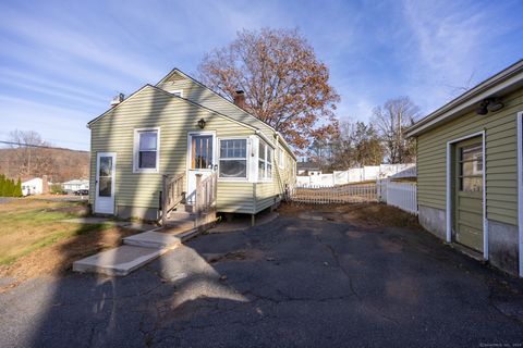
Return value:
M 523 285 L 428 233 L 283 216 L 0 295 L 2 347 L 510 347 Z

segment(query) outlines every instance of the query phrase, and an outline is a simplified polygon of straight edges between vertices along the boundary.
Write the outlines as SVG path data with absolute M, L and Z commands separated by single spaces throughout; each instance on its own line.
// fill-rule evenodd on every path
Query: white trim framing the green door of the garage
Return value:
M 488 221 L 487 221 L 487 186 L 486 186 L 486 172 L 487 172 L 487 162 L 485 161 L 485 130 L 476 132 L 464 137 L 449 140 L 447 141 L 447 211 L 446 211 L 446 219 L 447 219 L 447 231 L 446 237 L 447 243 L 452 241 L 452 145 L 455 142 L 460 142 L 462 140 L 466 140 L 474 137 L 482 137 L 482 145 L 483 145 L 483 258 L 488 260 Z

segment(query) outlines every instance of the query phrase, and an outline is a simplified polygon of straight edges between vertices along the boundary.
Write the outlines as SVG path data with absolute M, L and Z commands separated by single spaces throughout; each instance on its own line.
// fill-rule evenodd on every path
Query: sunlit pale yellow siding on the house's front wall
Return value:
M 187 133 L 200 130 L 196 125 L 200 117 L 207 121 L 205 129 L 215 130 L 217 137 L 254 134 L 248 127 L 153 87 L 145 87 L 132 100 L 110 110 L 92 125 L 92 199 L 95 197 L 96 153 L 115 152 L 117 207 L 158 209 L 162 174 L 186 172 Z M 160 127 L 159 173 L 133 173 L 134 129 L 145 127 Z M 252 196 L 245 195 L 243 189 L 230 189 L 230 185 L 220 182 L 218 194 L 222 195 L 218 210 L 222 204 L 240 207 L 239 212 L 252 212 Z

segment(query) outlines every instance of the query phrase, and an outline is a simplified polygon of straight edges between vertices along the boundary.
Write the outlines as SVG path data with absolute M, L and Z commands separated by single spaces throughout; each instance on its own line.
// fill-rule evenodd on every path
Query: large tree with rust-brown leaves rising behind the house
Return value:
M 246 94 L 246 110 L 299 149 L 336 132 L 340 97 L 329 70 L 297 29 L 243 30 L 229 46 L 207 53 L 200 79 L 224 97 Z

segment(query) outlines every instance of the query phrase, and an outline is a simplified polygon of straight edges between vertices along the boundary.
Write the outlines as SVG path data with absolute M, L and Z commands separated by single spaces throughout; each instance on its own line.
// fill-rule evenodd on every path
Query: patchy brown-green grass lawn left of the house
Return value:
M 75 224 L 85 202 L 23 198 L 0 203 L 0 276 L 27 278 L 69 269 L 135 232 L 112 224 Z

